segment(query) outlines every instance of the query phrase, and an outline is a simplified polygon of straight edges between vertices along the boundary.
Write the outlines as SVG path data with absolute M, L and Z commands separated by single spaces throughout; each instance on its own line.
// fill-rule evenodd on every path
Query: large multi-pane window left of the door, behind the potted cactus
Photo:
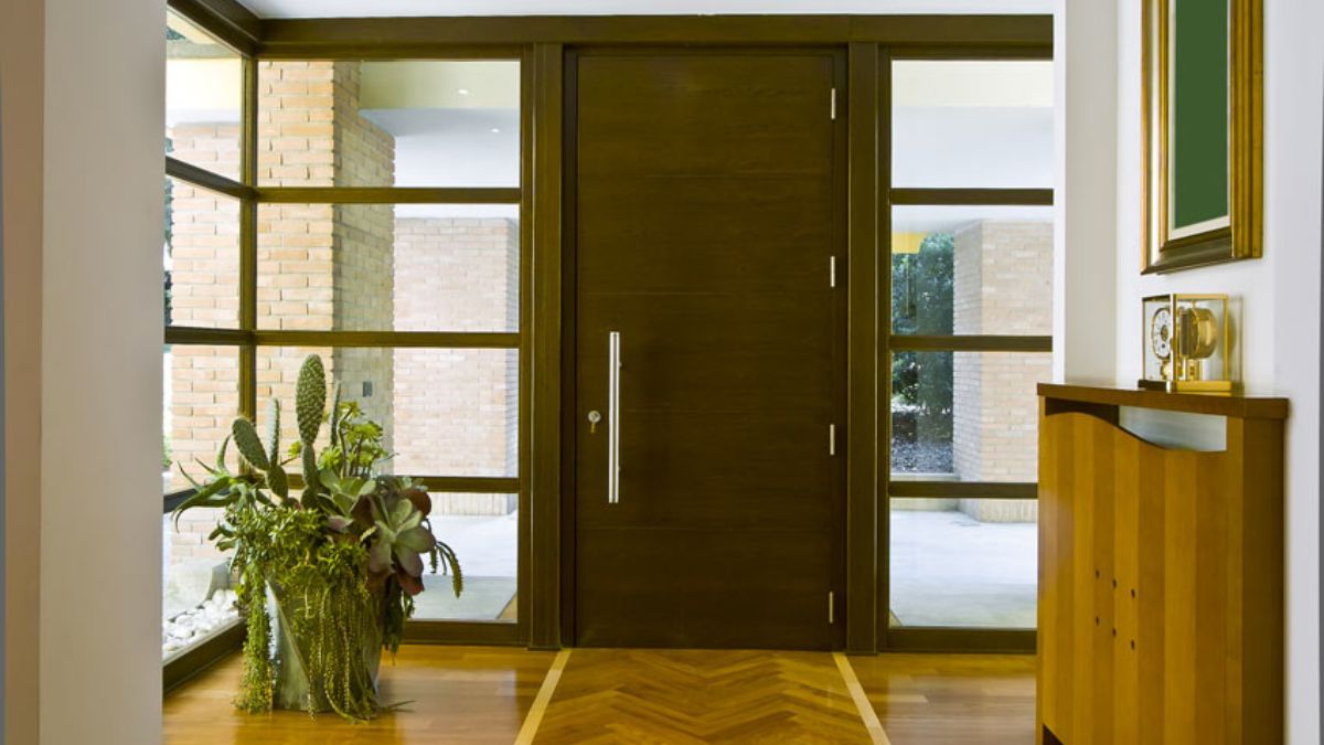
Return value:
M 191 492 L 172 464 L 211 463 L 236 415 L 263 423 L 310 353 L 385 424 L 387 468 L 426 483 L 434 533 L 461 558 L 463 597 L 426 577 L 416 618 L 514 640 L 528 398 L 520 61 L 258 60 L 184 9 L 168 11 L 166 37 L 168 667 L 205 664 L 205 642 L 237 631 L 217 610 L 217 516 L 175 525 Z M 196 622 L 207 614 L 211 626 Z

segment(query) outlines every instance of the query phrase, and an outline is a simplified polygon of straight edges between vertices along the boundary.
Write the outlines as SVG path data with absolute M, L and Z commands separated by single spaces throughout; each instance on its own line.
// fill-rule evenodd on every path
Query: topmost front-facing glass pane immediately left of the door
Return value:
M 260 62 L 258 183 L 518 187 L 519 62 Z

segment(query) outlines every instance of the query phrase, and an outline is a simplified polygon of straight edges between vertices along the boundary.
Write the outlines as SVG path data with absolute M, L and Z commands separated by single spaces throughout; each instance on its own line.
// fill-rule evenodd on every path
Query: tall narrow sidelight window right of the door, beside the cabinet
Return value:
M 895 60 L 890 81 L 891 632 L 1031 630 L 1053 65 Z

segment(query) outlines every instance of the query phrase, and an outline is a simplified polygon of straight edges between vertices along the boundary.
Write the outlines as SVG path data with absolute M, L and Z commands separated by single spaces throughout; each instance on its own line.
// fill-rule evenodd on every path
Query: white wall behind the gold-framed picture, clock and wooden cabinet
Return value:
M 1287 423 L 1288 741 L 1317 742 L 1320 200 L 1324 5 L 1264 0 L 1264 257 L 1140 276 L 1141 3 L 1120 0 L 1117 107 L 1116 378 L 1141 369 L 1140 298 L 1172 292 L 1231 296 L 1234 359 L 1250 395 L 1291 399 Z M 1074 300 L 1068 300 L 1074 302 Z

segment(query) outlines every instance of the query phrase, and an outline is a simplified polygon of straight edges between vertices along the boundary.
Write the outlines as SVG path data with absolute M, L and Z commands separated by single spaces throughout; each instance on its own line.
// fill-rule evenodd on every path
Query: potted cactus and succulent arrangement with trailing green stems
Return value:
M 455 553 L 432 533 L 428 489 L 377 472 L 391 456 L 381 426 L 357 403 L 342 402 L 339 386 L 327 411 L 318 355 L 299 369 L 295 419 L 299 440 L 285 453 L 278 400 L 270 404 L 265 443 L 253 422 L 236 419 L 216 463 L 199 461 L 207 477 L 195 481 L 185 473 L 195 493 L 175 514 L 225 510 L 209 540 L 233 550 L 236 594 L 248 622 L 236 707 L 256 713 L 290 705 L 293 688 L 310 713 L 331 709 L 350 720 L 369 718 L 384 711 L 375 684 L 379 646 L 392 654 L 400 648 L 413 597 L 424 590 L 424 557 L 432 571 L 450 574 L 457 597 L 463 575 Z M 328 437 L 318 452 L 323 423 Z M 232 443 L 234 472 L 226 464 Z M 291 465 L 302 473 L 298 496 L 290 492 Z M 293 644 L 273 638 L 273 622 Z M 282 654 L 274 654 L 277 644 Z M 282 685 L 290 679 L 298 685 Z

